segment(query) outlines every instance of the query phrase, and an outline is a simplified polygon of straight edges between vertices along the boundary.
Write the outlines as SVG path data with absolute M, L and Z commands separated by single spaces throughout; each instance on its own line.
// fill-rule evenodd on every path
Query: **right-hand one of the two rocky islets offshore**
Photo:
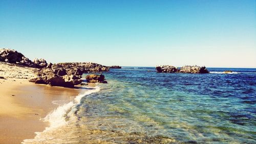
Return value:
M 205 66 L 186 65 L 180 68 L 179 73 L 208 74 L 209 71 L 206 69 Z

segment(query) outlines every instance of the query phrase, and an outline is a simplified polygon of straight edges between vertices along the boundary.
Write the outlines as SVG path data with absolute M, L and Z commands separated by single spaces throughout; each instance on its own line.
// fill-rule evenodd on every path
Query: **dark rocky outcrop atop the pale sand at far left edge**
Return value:
M 32 62 L 22 53 L 11 49 L 0 49 L 0 61 L 36 68 L 43 68 L 47 66 L 47 62 L 44 59 L 34 59 L 34 61 Z

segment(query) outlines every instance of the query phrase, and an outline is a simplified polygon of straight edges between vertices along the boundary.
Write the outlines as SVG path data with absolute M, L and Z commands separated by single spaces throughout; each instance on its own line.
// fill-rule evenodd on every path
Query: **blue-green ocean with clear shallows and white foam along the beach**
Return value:
M 207 69 L 110 69 L 108 84 L 59 106 L 23 143 L 256 143 L 256 68 Z

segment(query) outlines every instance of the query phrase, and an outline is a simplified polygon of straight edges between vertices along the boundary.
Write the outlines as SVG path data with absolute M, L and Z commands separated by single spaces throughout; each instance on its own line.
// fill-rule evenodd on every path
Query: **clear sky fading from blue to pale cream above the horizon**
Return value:
M 48 62 L 256 67 L 256 4 L 0 1 L 0 47 Z

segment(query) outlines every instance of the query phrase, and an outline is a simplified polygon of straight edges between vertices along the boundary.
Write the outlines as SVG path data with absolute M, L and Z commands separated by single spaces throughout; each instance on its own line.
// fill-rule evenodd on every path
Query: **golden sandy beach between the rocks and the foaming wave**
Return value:
M 42 122 L 58 105 L 66 103 L 82 89 L 51 87 L 28 82 L 35 68 L 0 62 L 0 143 L 20 143 L 35 136 L 49 124 Z

